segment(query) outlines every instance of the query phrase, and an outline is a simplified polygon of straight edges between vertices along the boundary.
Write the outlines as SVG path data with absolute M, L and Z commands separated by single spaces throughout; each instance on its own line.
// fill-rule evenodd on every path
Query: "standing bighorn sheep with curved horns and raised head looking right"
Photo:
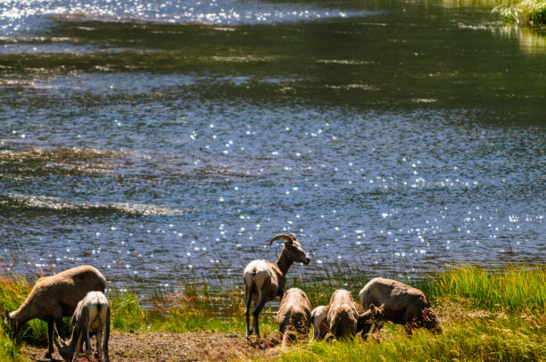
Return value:
M 246 337 L 252 332 L 260 336 L 258 330 L 258 316 L 265 303 L 274 300 L 277 295 L 282 298 L 285 293 L 286 273 L 294 261 L 309 264 L 310 259 L 302 249 L 294 234 L 277 234 L 269 240 L 271 245 L 277 239 L 285 240 L 285 247 L 275 263 L 266 260 L 252 260 L 244 268 L 244 317 L 246 320 Z M 250 326 L 250 306 L 254 300 L 252 310 L 252 328 Z

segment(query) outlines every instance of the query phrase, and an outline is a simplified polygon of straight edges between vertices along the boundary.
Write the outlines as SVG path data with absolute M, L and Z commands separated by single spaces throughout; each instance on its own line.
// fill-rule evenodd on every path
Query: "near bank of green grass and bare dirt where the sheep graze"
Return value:
M 362 276 L 359 276 L 361 278 Z M 336 288 L 355 300 L 367 279 L 332 276 L 310 288 L 311 304 L 327 303 Z M 347 285 L 344 285 L 347 284 Z M 353 288 L 349 285 L 355 285 Z M 112 360 L 544 360 L 546 359 L 546 267 L 509 266 L 494 272 L 458 267 L 419 282 L 434 305 L 444 333 L 418 331 L 409 339 L 399 325 L 385 325 L 379 341 L 302 343 L 289 350 L 276 344 L 275 306 L 261 315 L 264 338 L 244 338 L 243 295 L 213 291 L 206 284 L 181 285 L 158 293 L 143 309 L 134 293 L 112 294 Z M 29 291 L 18 276 L 0 278 L 0 303 L 14 309 Z M 220 293 L 221 292 L 221 293 Z M 4 328 L 4 326 L 3 326 Z M 0 331 L 0 360 L 44 360 L 45 324 L 34 320 L 17 341 Z

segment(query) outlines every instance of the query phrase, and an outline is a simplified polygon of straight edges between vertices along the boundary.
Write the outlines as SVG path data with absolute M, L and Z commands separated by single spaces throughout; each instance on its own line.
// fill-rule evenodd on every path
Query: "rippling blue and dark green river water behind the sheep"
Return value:
M 546 261 L 546 37 L 491 2 L 0 4 L 0 264 L 147 290 Z M 363 281 L 365 283 L 365 281 Z

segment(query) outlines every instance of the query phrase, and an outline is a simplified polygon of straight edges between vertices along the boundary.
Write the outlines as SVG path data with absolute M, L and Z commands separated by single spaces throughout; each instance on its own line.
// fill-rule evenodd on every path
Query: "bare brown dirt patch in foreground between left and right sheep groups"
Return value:
M 95 338 L 92 338 L 95 354 Z M 273 358 L 276 345 L 269 340 L 247 341 L 244 337 L 220 333 L 128 333 L 112 331 L 109 342 L 112 362 L 128 361 L 227 361 Z M 23 346 L 23 354 L 32 361 L 52 361 L 44 358 L 45 348 Z M 80 354 L 79 362 L 87 362 Z M 62 362 L 55 349 L 53 361 Z M 91 358 L 91 362 L 97 361 Z

